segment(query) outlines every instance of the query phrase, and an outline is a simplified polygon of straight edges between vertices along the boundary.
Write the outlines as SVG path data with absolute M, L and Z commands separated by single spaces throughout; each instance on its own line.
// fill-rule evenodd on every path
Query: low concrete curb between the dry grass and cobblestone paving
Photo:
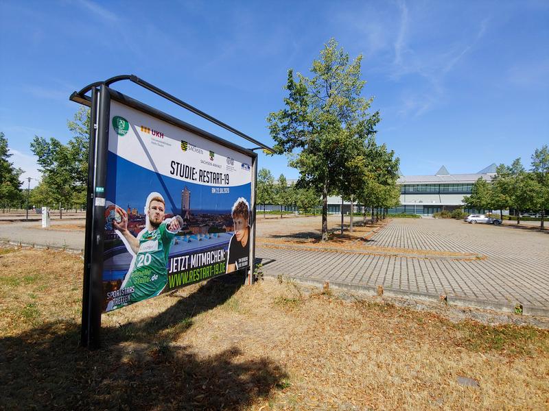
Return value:
M 276 278 L 274 275 L 265 274 L 266 277 Z M 296 282 L 301 284 L 310 284 L 312 286 L 323 287 L 325 280 L 323 279 L 314 279 L 306 277 L 298 277 L 296 275 L 284 275 L 284 277 L 294 279 Z M 347 291 L 359 291 L 366 292 L 371 295 L 377 295 L 377 286 L 368 286 L 366 284 L 346 284 L 342 282 L 329 282 L 331 287 L 338 288 L 340 290 Z M 395 290 L 393 288 L 384 288 L 383 295 L 388 297 L 407 297 L 412 299 L 418 299 L 423 301 L 431 302 L 440 302 L 440 295 L 429 294 L 427 292 L 416 292 L 416 291 L 404 291 L 404 290 Z M 515 305 L 513 303 L 500 303 L 498 301 L 486 301 L 480 299 L 469 299 L 466 297 L 456 297 L 452 295 L 447 295 L 448 305 L 460 306 L 460 307 L 475 307 L 482 308 L 484 310 L 494 310 L 502 312 L 515 312 Z M 519 301 L 516 301 L 519 302 Z M 549 308 L 535 307 L 535 306 L 523 306 L 522 307 L 523 315 L 532 315 L 532 316 L 544 316 L 549 317 Z

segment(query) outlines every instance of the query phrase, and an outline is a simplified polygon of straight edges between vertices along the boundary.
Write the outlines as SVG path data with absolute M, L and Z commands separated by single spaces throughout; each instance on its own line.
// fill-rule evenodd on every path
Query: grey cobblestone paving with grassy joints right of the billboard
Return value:
M 549 309 L 549 232 L 439 219 L 395 219 L 368 247 L 395 255 L 258 247 L 266 275 L 447 295 Z M 417 258 L 397 249 L 474 253 L 483 260 Z M 440 253 L 439 253 L 440 254 Z

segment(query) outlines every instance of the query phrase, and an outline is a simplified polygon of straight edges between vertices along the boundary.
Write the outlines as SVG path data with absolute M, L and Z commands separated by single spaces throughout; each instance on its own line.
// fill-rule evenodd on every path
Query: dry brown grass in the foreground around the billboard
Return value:
M 103 316 L 78 347 L 82 260 L 0 253 L 0 408 L 545 410 L 549 332 L 380 297 L 222 277 Z M 479 386 L 460 386 L 458 376 Z

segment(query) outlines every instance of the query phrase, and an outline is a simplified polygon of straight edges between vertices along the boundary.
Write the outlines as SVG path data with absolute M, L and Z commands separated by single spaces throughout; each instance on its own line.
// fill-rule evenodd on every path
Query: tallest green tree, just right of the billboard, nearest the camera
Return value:
M 288 71 L 285 108 L 268 116 L 270 135 L 277 153 L 287 153 L 290 166 L 300 172 L 298 186 L 312 188 L 323 199 L 322 240 L 328 240 L 327 197 L 341 192 L 338 186 L 347 168 L 355 138 L 351 132 L 362 124 L 373 129 L 379 113 L 369 114 L 372 99 L 361 96 L 365 82 L 360 79 L 362 55 L 349 62 L 349 55 L 333 38 L 320 51 L 310 69 L 311 78 Z

